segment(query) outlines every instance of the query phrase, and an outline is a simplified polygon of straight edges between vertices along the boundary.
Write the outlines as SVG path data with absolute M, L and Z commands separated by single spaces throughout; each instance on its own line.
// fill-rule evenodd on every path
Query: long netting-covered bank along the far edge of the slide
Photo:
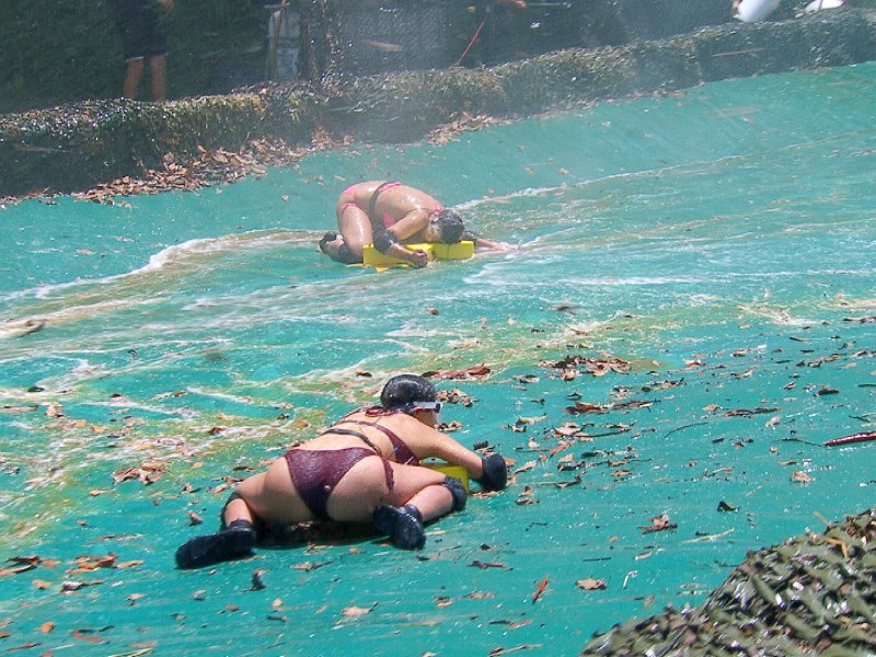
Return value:
M 266 84 L 151 105 L 93 101 L 0 117 L 0 197 L 88 189 L 160 169 L 168 153 L 250 140 L 406 142 L 464 115 L 520 118 L 603 99 L 669 93 L 729 77 L 869 61 L 872 10 L 736 24 L 618 48 L 569 48 L 493 68 L 385 73 L 311 89 Z M 337 55 L 341 57 L 341 55 Z

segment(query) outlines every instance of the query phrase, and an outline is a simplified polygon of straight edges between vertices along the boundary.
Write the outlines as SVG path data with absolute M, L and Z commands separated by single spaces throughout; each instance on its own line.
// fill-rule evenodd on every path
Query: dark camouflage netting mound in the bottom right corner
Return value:
M 581 655 L 876 654 L 876 507 L 749 553 L 698 608 L 632 620 Z

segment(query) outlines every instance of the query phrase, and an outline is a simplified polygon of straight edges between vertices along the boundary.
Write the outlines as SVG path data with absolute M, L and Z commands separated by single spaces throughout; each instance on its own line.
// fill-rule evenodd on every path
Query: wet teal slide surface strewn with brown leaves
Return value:
M 41 560 L 0 578 L 0 647 L 574 655 L 876 504 L 876 443 L 821 447 L 876 419 L 875 88 L 876 64 L 728 81 L 222 188 L 0 210 L 0 556 Z M 380 177 L 519 250 L 326 261 L 336 195 Z M 568 379 L 566 357 L 631 369 Z M 229 477 L 393 373 L 482 364 L 439 382 L 475 399 L 442 419 L 519 472 L 424 552 L 351 537 L 174 569 Z M 678 528 L 643 532 L 661 514 Z

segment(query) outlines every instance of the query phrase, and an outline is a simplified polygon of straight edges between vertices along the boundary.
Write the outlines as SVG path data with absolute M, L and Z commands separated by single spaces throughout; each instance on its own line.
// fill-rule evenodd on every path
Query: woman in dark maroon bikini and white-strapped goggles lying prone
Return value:
M 393 377 L 380 402 L 242 481 L 222 509 L 222 530 L 189 539 L 176 551 L 176 564 L 198 568 L 246 556 L 260 530 L 311 520 L 371 522 L 397 548 L 419 550 L 424 525 L 463 509 L 466 499 L 460 480 L 419 464 L 429 457 L 463 466 L 484 489 L 505 487 L 499 454 L 482 458 L 436 430 L 441 403 L 426 379 Z

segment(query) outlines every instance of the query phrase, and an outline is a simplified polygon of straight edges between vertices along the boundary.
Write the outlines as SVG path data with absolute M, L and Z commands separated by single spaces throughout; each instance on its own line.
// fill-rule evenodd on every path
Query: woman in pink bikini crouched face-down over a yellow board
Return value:
M 362 262 L 362 247 L 368 244 L 416 267 L 426 266 L 428 254 L 405 249 L 404 244 L 471 240 L 477 247 L 505 247 L 466 231 L 453 210 L 425 192 L 394 181 L 351 185 L 341 194 L 335 209 L 341 235 L 325 233 L 320 250 L 346 264 Z

